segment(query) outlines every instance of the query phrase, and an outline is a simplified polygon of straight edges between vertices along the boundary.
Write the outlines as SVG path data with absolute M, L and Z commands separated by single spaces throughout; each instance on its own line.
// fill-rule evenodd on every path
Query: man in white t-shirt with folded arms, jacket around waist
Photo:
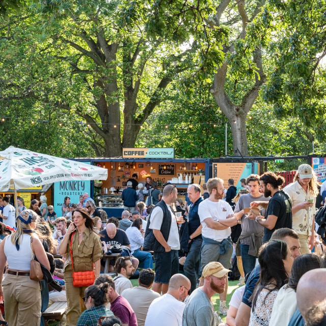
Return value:
M 233 253 L 233 243 L 231 240 L 231 226 L 238 223 L 233 214 L 231 206 L 223 201 L 224 188 L 223 180 L 211 178 L 206 182 L 209 198 L 199 204 L 198 214 L 202 229 L 202 250 L 200 274 L 206 264 L 211 261 L 218 261 L 226 268 L 231 268 L 231 258 Z M 200 286 L 203 285 L 201 280 Z M 220 294 L 220 313 L 226 315 L 226 295 L 228 283 L 225 291 Z

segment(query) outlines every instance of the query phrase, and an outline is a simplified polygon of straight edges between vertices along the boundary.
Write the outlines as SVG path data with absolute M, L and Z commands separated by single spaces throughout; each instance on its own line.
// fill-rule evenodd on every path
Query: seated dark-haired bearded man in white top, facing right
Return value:
M 132 266 L 130 257 L 119 257 L 114 268 L 118 273 L 118 275 L 113 279 L 116 291 L 121 294 L 125 289 L 132 289 L 132 284 L 129 278 L 132 276 L 134 267 Z

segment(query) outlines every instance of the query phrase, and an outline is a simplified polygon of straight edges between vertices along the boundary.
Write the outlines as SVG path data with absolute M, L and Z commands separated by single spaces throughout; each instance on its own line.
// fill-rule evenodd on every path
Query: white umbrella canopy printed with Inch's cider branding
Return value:
M 58 181 L 106 180 L 107 170 L 13 146 L 0 152 L 0 191 Z

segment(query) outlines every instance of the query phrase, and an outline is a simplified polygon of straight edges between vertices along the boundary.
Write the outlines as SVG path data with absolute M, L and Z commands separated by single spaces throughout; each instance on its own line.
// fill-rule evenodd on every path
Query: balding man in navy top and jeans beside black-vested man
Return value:
M 202 247 L 203 238 L 202 225 L 198 215 L 198 205 L 203 201 L 201 196 L 201 189 L 198 184 L 191 184 L 188 186 L 187 195 L 192 202 L 188 206 L 188 225 L 189 225 L 189 244 L 190 248 L 183 266 L 185 276 L 190 280 L 192 287 L 191 290 L 196 289 L 196 282 L 198 280 L 199 271 L 199 257 L 200 249 Z

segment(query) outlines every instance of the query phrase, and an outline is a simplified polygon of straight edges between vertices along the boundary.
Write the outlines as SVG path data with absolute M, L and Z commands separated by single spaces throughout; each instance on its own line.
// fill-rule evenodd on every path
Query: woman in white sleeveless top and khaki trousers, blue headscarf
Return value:
M 0 244 L 0 280 L 8 262 L 8 274 L 0 285 L 9 325 L 39 326 L 41 322 L 41 285 L 30 279 L 31 258 L 50 269 L 42 242 L 35 231 L 38 217 L 30 209 L 17 218 L 17 230 Z

